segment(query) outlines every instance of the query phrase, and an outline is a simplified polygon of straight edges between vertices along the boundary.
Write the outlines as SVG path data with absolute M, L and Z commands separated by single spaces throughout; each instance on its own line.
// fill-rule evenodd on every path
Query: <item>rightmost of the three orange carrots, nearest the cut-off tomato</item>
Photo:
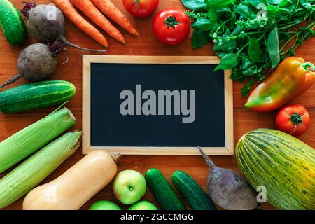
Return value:
M 120 27 L 134 34 L 139 35 L 137 29 L 132 26 L 132 23 L 128 18 L 111 2 L 111 0 L 91 0 L 99 10 L 102 11 L 105 15 L 115 21 Z

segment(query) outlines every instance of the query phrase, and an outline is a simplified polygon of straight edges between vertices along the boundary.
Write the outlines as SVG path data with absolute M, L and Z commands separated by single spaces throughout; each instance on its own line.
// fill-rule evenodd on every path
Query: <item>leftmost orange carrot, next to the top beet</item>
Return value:
M 101 34 L 90 22 L 87 22 L 85 18 L 83 18 L 76 9 L 72 6 L 69 0 L 53 0 L 57 8 L 62 10 L 62 13 L 66 15 L 74 25 L 76 25 L 79 29 L 85 32 L 85 34 L 92 37 L 95 41 L 102 44 L 104 47 L 108 47 L 109 43 L 107 42 L 105 36 Z

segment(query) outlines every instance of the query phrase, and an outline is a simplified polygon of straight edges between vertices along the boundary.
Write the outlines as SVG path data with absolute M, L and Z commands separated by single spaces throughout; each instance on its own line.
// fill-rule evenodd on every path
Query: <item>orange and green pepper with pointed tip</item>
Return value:
M 315 66 L 301 57 L 288 57 L 251 92 L 247 109 L 269 112 L 302 94 L 315 82 Z

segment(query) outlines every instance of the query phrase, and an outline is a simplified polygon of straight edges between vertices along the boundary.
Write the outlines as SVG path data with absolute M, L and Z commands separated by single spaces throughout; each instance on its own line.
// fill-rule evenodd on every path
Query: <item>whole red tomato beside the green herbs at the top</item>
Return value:
M 182 43 L 189 33 L 190 18 L 183 10 L 162 10 L 153 19 L 153 34 L 167 45 Z

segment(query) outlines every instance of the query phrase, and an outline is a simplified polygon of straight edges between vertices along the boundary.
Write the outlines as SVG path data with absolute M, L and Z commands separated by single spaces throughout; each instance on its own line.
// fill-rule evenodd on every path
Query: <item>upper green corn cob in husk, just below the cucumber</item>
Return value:
M 0 143 L 0 173 L 76 125 L 69 109 L 54 111 Z

